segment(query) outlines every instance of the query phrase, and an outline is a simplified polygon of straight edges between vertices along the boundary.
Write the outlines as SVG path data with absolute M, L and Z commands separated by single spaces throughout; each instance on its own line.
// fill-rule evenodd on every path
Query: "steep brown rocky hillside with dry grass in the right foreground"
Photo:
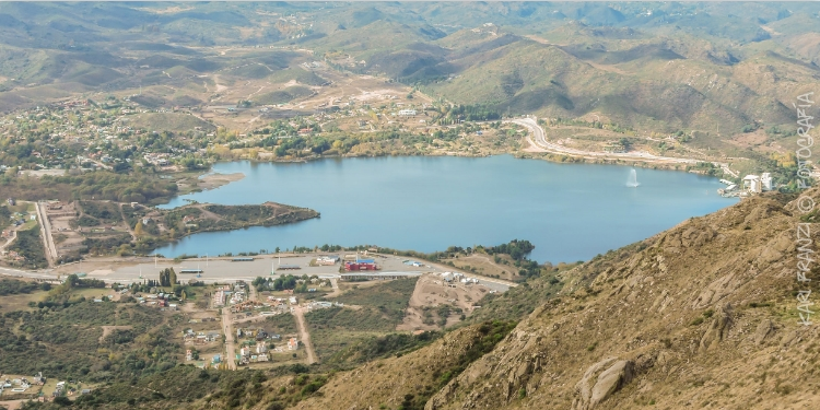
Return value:
M 424 408 L 820 408 L 817 327 L 797 318 L 801 213 L 790 199 L 747 199 L 565 273 L 557 297 Z M 431 373 L 475 329 L 335 374 L 298 408 L 415 408 L 408 395 L 441 380 Z

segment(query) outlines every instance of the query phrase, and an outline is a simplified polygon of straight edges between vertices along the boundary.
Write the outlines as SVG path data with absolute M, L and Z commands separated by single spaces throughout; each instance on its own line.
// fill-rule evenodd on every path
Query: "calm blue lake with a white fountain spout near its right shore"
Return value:
M 540 262 L 586 260 L 644 239 L 690 216 L 737 202 L 711 177 L 637 168 L 555 164 L 509 155 L 377 157 L 309 163 L 219 163 L 245 178 L 173 199 L 221 204 L 266 201 L 306 207 L 320 219 L 195 234 L 157 249 L 166 257 L 294 246 L 378 245 L 420 251 L 528 239 Z

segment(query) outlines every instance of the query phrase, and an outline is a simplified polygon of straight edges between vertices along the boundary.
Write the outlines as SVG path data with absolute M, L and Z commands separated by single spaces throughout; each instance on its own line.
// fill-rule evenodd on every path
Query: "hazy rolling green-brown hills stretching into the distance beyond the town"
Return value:
M 238 60 L 208 47 L 231 45 L 344 55 L 364 61 L 355 72 L 509 114 L 672 132 L 788 126 L 794 96 L 820 84 L 813 3 L 17 2 L 0 22 L 7 110 L 213 72 Z

